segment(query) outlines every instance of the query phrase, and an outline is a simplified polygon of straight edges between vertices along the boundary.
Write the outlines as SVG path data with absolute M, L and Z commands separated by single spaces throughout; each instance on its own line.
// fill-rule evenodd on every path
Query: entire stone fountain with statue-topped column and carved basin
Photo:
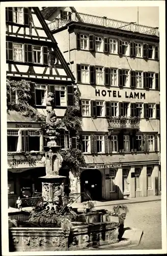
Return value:
M 42 202 L 22 223 L 10 221 L 10 251 L 79 250 L 118 242 L 119 219 L 112 220 L 106 210 L 88 209 L 80 212 L 64 205 L 64 179 L 59 175 L 63 158 L 54 129 L 57 117 L 52 93 L 46 102 L 47 146 L 46 175 L 42 181 Z M 24 210 L 19 211 L 23 214 Z M 26 212 L 27 215 L 27 212 Z M 39 221 L 40 220 L 40 221 Z

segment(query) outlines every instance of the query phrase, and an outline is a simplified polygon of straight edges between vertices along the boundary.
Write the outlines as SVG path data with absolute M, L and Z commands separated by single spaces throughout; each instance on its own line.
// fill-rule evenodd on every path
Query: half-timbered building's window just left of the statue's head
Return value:
M 45 106 L 46 105 L 46 86 L 43 84 L 38 84 L 35 86 L 35 99 L 36 105 Z

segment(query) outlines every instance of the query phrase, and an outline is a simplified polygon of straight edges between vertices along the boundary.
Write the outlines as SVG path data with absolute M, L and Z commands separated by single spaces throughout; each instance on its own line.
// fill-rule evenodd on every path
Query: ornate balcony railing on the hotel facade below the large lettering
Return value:
M 108 129 L 116 128 L 130 128 L 139 129 L 140 128 L 140 118 L 138 117 L 110 117 L 108 119 Z

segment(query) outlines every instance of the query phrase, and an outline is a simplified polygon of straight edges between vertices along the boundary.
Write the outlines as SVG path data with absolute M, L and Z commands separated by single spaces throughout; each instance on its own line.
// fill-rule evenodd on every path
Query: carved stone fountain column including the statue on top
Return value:
M 46 101 L 46 123 L 48 129 L 46 131 L 47 146 L 45 150 L 46 161 L 46 175 L 40 177 L 42 180 L 42 197 L 43 201 L 47 202 L 46 208 L 59 211 L 60 206 L 63 204 L 63 183 L 65 176 L 59 175 L 59 169 L 62 166 L 63 158 L 59 151 L 61 146 L 57 145 L 57 132 L 54 129 L 54 125 L 57 121 L 57 117 L 53 110 L 53 94 L 49 93 Z

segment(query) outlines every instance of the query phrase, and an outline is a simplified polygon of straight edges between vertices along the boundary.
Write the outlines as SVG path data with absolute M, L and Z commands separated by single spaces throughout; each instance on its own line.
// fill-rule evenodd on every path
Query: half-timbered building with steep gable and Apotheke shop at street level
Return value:
M 44 116 L 48 92 L 54 95 L 58 118 L 73 105 L 75 78 L 38 8 L 6 8 L 6 68 L 8 79 L 31 81 L 31 104 Z M 10 91 L 10 101 L 17 102 L 17 91 Z M 7 121 L 8 196 L 9 205 L 15 206 L 18 196 L 41 192 L 44 140 L 39 122 L 16 111 L 9 111 Z M 63 134 L 62 148 L 69 146 L 68 140 L 69 135 Z M 35 154 L 27 159 L 26 152 Z

